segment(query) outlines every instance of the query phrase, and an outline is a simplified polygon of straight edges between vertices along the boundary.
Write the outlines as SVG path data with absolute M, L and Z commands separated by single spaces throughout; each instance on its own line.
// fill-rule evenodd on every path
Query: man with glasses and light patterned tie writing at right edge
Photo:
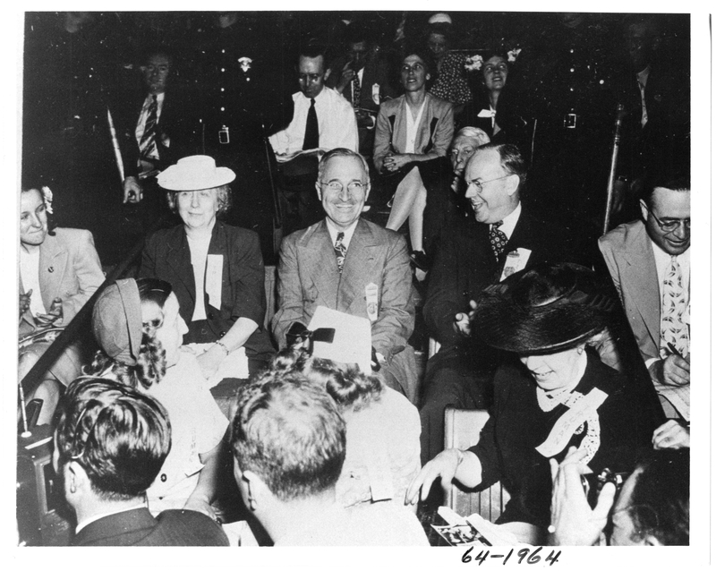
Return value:
M 640 201 L 642 219 L 599 241 L 658 392 L 689 384 L 690 189 L 688 176 L 653 178 Z

